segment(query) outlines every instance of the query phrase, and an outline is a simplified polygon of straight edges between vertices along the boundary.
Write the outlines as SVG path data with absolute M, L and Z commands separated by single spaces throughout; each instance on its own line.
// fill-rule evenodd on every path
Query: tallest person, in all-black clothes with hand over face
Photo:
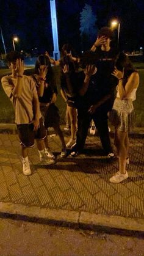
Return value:
M 107 113 L 112 109 L 115 87 L 117 86 L 117 78 L 112 76 L 112 72 L 118 53 L 117 50 L 110 47 L 111 40 L 111 29 L 103 27 L 91 48 L 92 59 L 98 70 L 90 79 L 88 87 L 84 88 L 83 86 L 80 92 L 84 107 L 77 109 L 77 139 L 71 156 L 76 156 L 84 147 L 87 131 L 92 119 L 98 129 L 104 154 L 109 158 L 114 156 L 109 138 Z

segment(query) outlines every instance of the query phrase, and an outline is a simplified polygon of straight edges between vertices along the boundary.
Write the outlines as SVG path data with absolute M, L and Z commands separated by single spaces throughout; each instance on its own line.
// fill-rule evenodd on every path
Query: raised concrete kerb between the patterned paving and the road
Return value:
M 73 229 L 144 235 L 144 219 L 107 216 L 85 211 L 52 210 L 36 206 L 29 207 L 19 203 L 0 202 L 0 218 L 58 225 Z

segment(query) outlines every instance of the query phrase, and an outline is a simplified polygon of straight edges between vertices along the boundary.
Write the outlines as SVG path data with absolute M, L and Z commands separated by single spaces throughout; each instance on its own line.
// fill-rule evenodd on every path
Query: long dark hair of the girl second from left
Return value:
M 49 61 L 48 56 L 40 54 L 35 62 L 35 74 L 39 75 L 40 65 L 48 66 L 48 72 L 46 74 L 46 82 L 49 82 L 51 86 L 54 86 L 54 73 L 52 71 L 51 62 Z

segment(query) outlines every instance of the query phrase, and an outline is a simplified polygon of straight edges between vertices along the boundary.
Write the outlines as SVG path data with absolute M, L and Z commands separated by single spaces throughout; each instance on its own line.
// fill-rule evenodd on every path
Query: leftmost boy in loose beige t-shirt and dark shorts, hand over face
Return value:
M 43 139 L 46 137 L 46 130 L 40 113 L 35 83 L 32 78 L 23 74 L 23 56 L 16 51 L 11 51 L 7 54 L 6 60 L 12 74 L 1 79 L 2 87 L 15 108 L 15 123 L 21 143 L 23 174 L 31 175 L 27 148 L 34 146 L 34 139 L 37 139 L 41 161 L 53 164 L 54 160 L 48 159 L 45 155 Z

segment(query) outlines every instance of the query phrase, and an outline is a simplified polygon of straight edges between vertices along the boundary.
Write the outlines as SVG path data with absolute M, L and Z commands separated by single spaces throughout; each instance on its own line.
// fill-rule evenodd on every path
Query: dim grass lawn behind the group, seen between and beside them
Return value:
M 135 67 L 137 66 L 136 63 L 134 63 Z M 141 65 L 141 64 L 140 64 Z M 140 67 L 139 65 L 139 67 Z M 143 64 L 142 64 L 143 65 Z M 143 65 L 144 68 L 144 65 Z M 4 70 L 4 73 L 0 71 L 0 76 L 5 75 L 7 73 L 7 70 Z M 26 75 L 31 75 L 34 73 L 34 68 L 25 70 L 24 73 Z M 137 115 L 137 127 L 144 127 L 144 69 L 139 70 L 140 74 L 140 86 L 137 90 L 137 100 L 134 101 L 134 108 Z M 56 105 L 59 108 L 59 114 L 60 114 L 60 123 L 65 123 L 65 111 L 66 111 L 66 104 L 63 100 L 63 98 L 60 95 L 60 69 L 59 67 L 54 67 L 54 75 L 56 77 L 56 84 L 57 84 L 57 90 L 58 90 L 58 96 L 57 96 L 57 102 Z M 4 90 L 2 89 L 2 86 L 0 84 L 0 123 L 13 123 L 15 120 L 15 114 L 13 110 L 12 103 L 10 102 L 7 95 L 5 95 Z

